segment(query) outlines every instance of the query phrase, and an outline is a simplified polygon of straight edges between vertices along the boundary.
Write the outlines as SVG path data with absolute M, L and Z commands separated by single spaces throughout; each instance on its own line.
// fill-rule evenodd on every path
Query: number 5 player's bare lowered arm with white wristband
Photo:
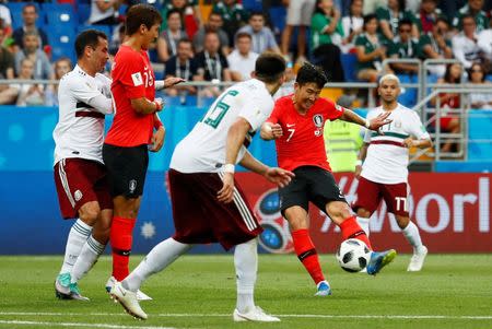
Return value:
M 225 143 L 225 165 L 223 185 L 218 192 L 218 199 L 221 202 L 229 203 L 234 196 L 234 165 L 236 164 L 237 154 L 243 145 L 246 133 L 251 129 L 251 125 L 242 117 L 229 128 L 227 141 Z

